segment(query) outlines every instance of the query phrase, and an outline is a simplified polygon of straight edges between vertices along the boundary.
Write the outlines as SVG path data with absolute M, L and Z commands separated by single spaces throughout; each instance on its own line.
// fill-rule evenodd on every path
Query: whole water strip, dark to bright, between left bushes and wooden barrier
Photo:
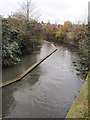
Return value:
M 38 47 L 38 51 L 33 52 L 32 54 L 24 55 L 21 58 L 21 63 L 15 66 L 6 67 L 2 69 L 2 81 L 7 81 L 13 79 L 20 75 L 23 71 L 25 71 L 32 64 L 40 60 L 49 54 L 53 49 L 53 45 L 48 42 L 43 42 L 42 46 Z

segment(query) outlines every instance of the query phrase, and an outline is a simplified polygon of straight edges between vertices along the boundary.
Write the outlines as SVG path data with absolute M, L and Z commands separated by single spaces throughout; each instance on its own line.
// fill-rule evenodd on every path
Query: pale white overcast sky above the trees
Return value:
M 0 15 L 7 16 L 17 11 L 25 0 L 0 0 Z M 40 11 L 40 20 L 44 22 L 60 23 L 66 20 L 85 22 L 90 0 L 32 0 Z

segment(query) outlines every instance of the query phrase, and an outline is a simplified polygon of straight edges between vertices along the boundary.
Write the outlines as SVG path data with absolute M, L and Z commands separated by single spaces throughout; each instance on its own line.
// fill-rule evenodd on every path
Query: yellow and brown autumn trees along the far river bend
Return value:
M 85 25 L 72 24 L 65 21 L 64 25 L 43 23 L 43 36 L 46 40 L 55 40 L 79 47 L 79 43 L 85 38 Z

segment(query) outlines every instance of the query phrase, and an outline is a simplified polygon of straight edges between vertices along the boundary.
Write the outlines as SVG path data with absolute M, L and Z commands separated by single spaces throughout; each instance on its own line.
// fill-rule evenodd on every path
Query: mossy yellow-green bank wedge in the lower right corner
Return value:
M 80 93 L 73 102 L 67 116 L 67 118 L 84 118 L 89 119 L 88 116 L 88 82 L 90 81 L 90 76 L 88 75 L 84 84 L 81 87 Z

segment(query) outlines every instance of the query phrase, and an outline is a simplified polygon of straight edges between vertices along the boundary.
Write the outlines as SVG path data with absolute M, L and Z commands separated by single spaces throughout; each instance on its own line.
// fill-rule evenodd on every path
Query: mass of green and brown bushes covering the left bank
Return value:
M 23 23 L 23 24 L 22 24 Z M 12 65 L 20 62 L 20 55 L 30 53 L 38 47 L 42 26 L 35 20 L 2 19 L 2 64 Z

